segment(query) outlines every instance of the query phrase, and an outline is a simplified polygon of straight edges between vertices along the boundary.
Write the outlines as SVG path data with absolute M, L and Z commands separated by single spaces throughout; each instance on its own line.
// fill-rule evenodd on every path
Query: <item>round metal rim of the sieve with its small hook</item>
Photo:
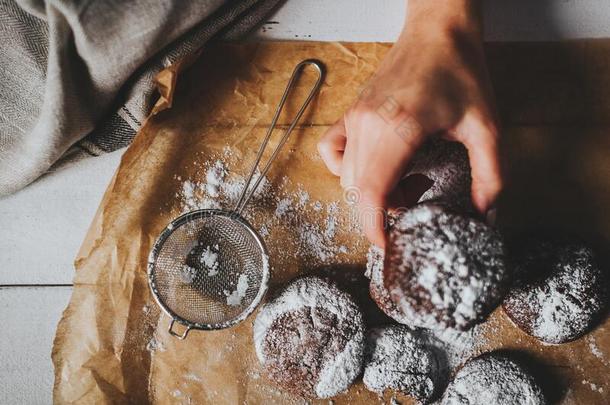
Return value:
M 174 311 L 171 310 L 171 308 L 169 308 L 169 306 L 167 306 L 163 302 L 163 300 L 159 296 L 159 292 L 155 285 L 153 273 L 154 273 L 157 257 L 159 256 L 159 252 L 163 248 L 163 245 L 165 244 L 167 239 L 178 228 L 180 228 L 181 226 L 184 226 L 185 224 L 190 222 L 192 217 L 195 217 L 195 216 L 198 218 L 205 218 L 205 217 L 212 217 L 212 216 L 224 216 L 233 221 L 239 222 L 240 225 L 242 225 L 250 233 L 250 235 L 254 238 L 254 240 L 256 241 L 256 244 L 261 249 L 261 253 L 267 258 L 267 260 L 269 258 L 267 246 L 265 245 L 265 242 L 260 237 L 258 232 L 256 232 L 256 230 L 252 227 L 252 225 L 250 225 L 250 223 L 244 217 L 242 217 L 240 214 L 238 214 L 235 211 L 227 211 L 227 210 L 221 210 L 221 209 L 200 209 L 200 210 L 190 211 L 185 214 L 182 214 L 179 217 L 175 218 L 173 221 L 171 221 L 169 224 L 167 224 L 167 226 L 163 229 L 163 231 L 161 232 L 161 234 L 159 235 L 159 237 L 153 244 L 153 247 L 150 250 L 150 254 L 148 256 L 148 263 L 147 263 L 148 286 L 152 292 L 153 298 L 155 299 L 155 302 L 157 303 L 157 305 L 159 305 L 159 307 L 163 310 L 163 312 L 165 312 L 165 314 L 167 316 L 172 318 L 172 322 L 169 326 L 169 332 L 173 335 L 176 335 L 175 332 L 172 331 L 172 326 L 173 326 L 174 322 L 178 322 L 181 325 L 186 327 L 186 331 L 181 336 L 176 335 L 176 336 L 182 337 L 182 338 L 185 338 L 187 333 L 191 329 L 198 329 L 198 330 L 226 329 L 226 328 L 236 325 L 239 322 L 246 319 L 259 306 L 263 297 L 267 293 L 267 290 L 269 288 L 269 279 L 270 279 L 270 273 L 271 273 L 269 266 L 267 266 L 267 268 L 261 269 L 263 274 L 262 274 L 262 278 L 261 278 L 261 284 L 258 289 L 258 293 L 257 293 L 256 297 L 254 297 L 254 299 L 252 300 L 250 305 L 248 305 L 248 307 L 246 307 L 243 312 L 241 312 L 236 317 L 231 318 L 225 322 L 197 323 L 197 322 L 191 322 L 188 319 L 184 319 L 180 315 L 176 314 Z

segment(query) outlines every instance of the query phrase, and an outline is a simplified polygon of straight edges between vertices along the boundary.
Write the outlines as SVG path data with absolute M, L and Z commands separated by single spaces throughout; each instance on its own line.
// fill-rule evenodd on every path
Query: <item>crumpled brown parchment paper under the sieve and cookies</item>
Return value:
M 160 76 L 163 97 L 156 114 L 125 152 L 75 262 L 74 291 L 52 354 L 55 402 L 303 402 L 260 373 L 253 317 L 228 330 L 194 331 L 185 341 L 171 338 L 169 319 L 159 313 L 148 290 L 146 261 L 159 232 L 184 208 L 184 179 L 201 179 L 205 163 L 227 146 L 231 169 L 246 173 L 292 69 L 306 58 L 327 65 L 326 82 L 268 178 L 271 187 L 283 182 L 289 192 L 298 185 L 312 200 L 338 202 L 337 243 L 347 252 L 332 263 L 305 260 L 289 243 L 298 237 L 290 224 L 271 229 L 266 237 L 271 289 L 298 274 L 325 272 L 344 279 L 369 325 L 387 322 L 367 299 L 361 275 L 367 243 L 352 227 L 351 209 L 342 202 L 338 180 L 318 157 L 316 142 L 357 97 L 388 48 L 374 43 L 222 44 L 205 49 L 188 70 L 173 68 Z M 605 266 L 610 241 L 609 50 L 604 41 L 488 46 L 510 162 L 501 225 L 509 232 L 553 227 L 575 233 L 596 245 Z M 300 83 L 297 95 L 305 94 L 311 80 Z M 287 106 L 281 124 L 301 100 L 296 97 Z M 261 203 L 254 225 L 273 215 L 271 210 Z M 309 211 L 303 215 L 321 220 Z M 607 403 L 607 320 L 587 337 L 560 346 L 526 336 L 500 309 L 488 325 L 488 343 L 481 350 L 502 348 L 529 362 L 553 403 Z M 361 383 L 334 400 L 380 401 Z

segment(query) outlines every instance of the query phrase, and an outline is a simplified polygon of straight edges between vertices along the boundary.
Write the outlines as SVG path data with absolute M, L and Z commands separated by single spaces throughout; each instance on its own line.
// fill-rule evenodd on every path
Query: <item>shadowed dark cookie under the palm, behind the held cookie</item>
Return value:
M 437 200 L 460 211 L 473 210 L 470 162 L 461 143 L 439 138 L 424 143 L 413 157 L 406 177 L 416 174 L 433 182 L 419 202 Z

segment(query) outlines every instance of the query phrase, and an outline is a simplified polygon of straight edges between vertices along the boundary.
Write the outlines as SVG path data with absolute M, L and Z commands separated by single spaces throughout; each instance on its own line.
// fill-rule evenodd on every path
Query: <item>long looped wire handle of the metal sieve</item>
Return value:
M 313 66 L 313 67 L 316 68 L 316 71 L 318 72 L 318 79 L 316 80 L 316 83 L 314 84 L 313 88 L 309 92 L 309 95 L 307 96 L 307 99 L 305 100 L 305 102 L 303 103 L 303 105 L 301 106 L 299 111 L 297 112 L 296 116 L 294 117 L 294 119 L 290 123 L 290 126 L 288 127 L 288 129 L 286 129 L 286 132 L 284 132 L 284 135 L 282 136 L 282 138 L 280 139 L 280 142 L 278 143 L 277 147 L 275 148 L 275 150 L 271 154 L 271 157 L 267 161 L 267 164 L 265 165 L 263 170 L 261 170 L 260 176 L 258 177 L 256 182 L 254 183 L 252 188 L 250 190 L 248 190 L 248 188 L 250 186 L 250 183 L 252 182 L 252 178 L 254 177 L 254 173 L 256 172 L 256 168 L 258 167 L 258 165 L 259 165 L 259 163 L 261 161 L 261 158 L 263 157 L 263 152 L 265 151 L 265 149 L 267 147 L 267 143 L 269 142 L 269 138 L 271 138 L 271 134 L 273 133 L 273 130 L 275 129 L 277 121 L 278 121 L 278 119 L 280 117 L 280 114 L 282 113 L 282 110 L 284 108 L 284 104 L 286 104 L 286 100 L 288 99 L 288 96 L 290 95 L 291 90 L 295 86 L 295 83 L 297 82 L 297 79 L 299 78 L 299 76 L 303 72 L 303 69 L 306 66 L 308 66 L 308 65 Z M 280 103 L 278 104 L 277 109 L 275 110 L 275 114 L 273 116 L 273 119 L 271 120 L 271 125 L 269 125 L 269 129 L 267 130 L 267 134 L 265 135 L 265 139 L 263 140 L 263 143 L 261 144 L 261 147 L 258 150 L 258 154 L 256 155 L 256 160 L 254 161 L 254 165 L 252 166 L 252 170 L 250 171 L 250 175 L 248 176 L 248 179 L 246 180 L 246 184 L 244 185 L 244 189 L 243 189 L 243 191 L 241 193 L 241 196 L 239 197 L 239 200 L 237 201 L 237 204 L 235 204 L 235 209 L 233 210 L 234 212 L 236 212 L 238 214 L 241 214 L 242 210 L 244 209 L 244 207 L 246 206 L 246 204 L 248 203 L 250 198 L 252 198 L 252 195 L 256 191 L 257 187 L 259 186 L 259 184 L 261 183 L 261 181 L 263 180 L 263 178 L 265 177 L 265 175 L 269 171 L 269 168 L 271 167 L 271 163 L 273 163 L 273 161 L 277 157 L 280 149 L 282 149 L 282 146 L 284 146 L 284 144 L 288 140 L 288 137 L 292 133 L 292 130 L 297 126 L 299 120 L 301 119 L 301 116 L 303 115 L 303 113 L 307 109 L 307 106 L 309 105 L 309 103 L 311 102 L 313 97 L 316 95 L 316 93 L 320 89 L 320 86 L 322 85 L 323 81 L 324 81 L 324 65 L 322 64 L 322 62 L 320 62 L 318 60 L 315 60 L 315 59 L 306 59 L 306 60 L 300 62 L 298 65 L 296 65 L 296 67 L 294 68 L 294 70 L 292 72 L 292 76 L 290 76 L 290 80 L 288 81 L 288 85 L 286 86 L 286 90 L 284 90 L 284 94 L 282 95 L 282 99 L 280 100 Z

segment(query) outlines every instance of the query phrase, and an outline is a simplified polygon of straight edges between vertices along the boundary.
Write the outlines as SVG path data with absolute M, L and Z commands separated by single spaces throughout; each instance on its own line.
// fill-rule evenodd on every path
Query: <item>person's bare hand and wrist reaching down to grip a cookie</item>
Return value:
M 466 146 L 472 200 L 481 213 L 502 188 L 478 3 L 410 0 L 398 41 L 359 99 L 318 143 L 341 186 L 357 193 L 364 232 L 380 247 L 385 246 L 384 212 L 408 199 L 409 190 L 399 183 L 428 136 Z

